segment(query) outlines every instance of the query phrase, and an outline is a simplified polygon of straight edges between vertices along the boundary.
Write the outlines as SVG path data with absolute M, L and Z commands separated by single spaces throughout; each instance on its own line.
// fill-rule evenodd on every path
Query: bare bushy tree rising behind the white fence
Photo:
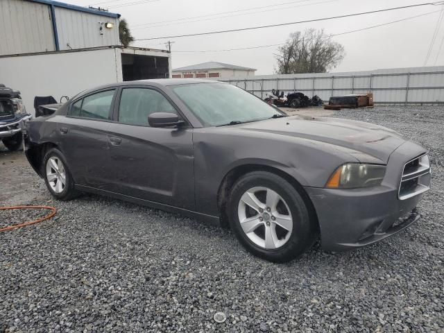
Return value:
M 325 73 L 344 58 L 344 48 L 323 30 L 291 33 L 276 54 L 278 74 Z

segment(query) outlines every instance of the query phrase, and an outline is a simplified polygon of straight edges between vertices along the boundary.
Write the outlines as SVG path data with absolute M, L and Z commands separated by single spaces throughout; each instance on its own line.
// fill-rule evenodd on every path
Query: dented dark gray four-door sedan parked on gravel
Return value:
M 90 89 L 27 126 L 53 196 L 112 196 L 230 226 L 286 262 L 321 238 L 356 248 L 417 221 L 425 148 L 370 123 L 288 117 L 242 89 L 164 79 Z

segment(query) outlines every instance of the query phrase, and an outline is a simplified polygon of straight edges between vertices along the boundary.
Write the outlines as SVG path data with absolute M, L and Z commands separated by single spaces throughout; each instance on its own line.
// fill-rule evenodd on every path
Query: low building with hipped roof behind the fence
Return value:
M 256 69 L 223 62 L 203 62 L 173 69 L 173 78 L 252 78 Z

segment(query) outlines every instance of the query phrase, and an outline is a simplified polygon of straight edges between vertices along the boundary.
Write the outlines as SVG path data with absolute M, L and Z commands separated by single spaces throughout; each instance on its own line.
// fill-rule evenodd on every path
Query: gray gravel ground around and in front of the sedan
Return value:
M 7 205 L 58 209 L 55 219 L 0 234 L 0 332 L 444 332 L 444 108 L 334 116 L 429 148 L 433 189 L 422 219 L 394 237 L 348 253 L 315 246 L 287 264 L 175 214 L 93 195 L 55 201 L 27 164 L 0 156 L 2 173 L 28 187 Z

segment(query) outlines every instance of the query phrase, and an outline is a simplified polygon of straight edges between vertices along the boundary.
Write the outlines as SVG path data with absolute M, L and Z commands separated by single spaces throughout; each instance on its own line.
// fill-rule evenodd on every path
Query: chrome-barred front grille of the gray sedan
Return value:
M 429 155 L 413 158 L 404 165 L 398 197 L 400 200 L 417 196 L 429 189 Z

